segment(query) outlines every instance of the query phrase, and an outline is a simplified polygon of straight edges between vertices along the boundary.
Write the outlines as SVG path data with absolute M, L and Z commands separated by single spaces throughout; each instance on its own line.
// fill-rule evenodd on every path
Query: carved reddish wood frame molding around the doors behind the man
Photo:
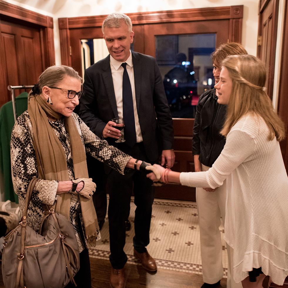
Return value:
M 182 9 L 154 12 L 127 13 L 132 24 L 170 23 L 229 19 L 229 39 L 239 42 L 242 39 L 243 5 Z M 59 18 L 61 59 L 63 65 L 71 66 L 70 29 L 101 27 L 107 15 Z

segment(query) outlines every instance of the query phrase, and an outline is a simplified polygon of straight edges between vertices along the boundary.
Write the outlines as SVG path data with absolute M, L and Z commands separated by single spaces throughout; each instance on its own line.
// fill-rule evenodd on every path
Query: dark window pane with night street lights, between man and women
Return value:
M 173 118 L 194 118 L 199 96 L 214 86 L 215 34 L 155 37 L 156 60 Z

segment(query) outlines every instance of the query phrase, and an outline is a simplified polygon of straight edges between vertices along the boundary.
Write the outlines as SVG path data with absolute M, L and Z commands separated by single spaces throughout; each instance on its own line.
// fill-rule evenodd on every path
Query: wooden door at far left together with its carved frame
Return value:
M 34 84 L 55 63 L 53 18 L 0 0 L 0 63 L 1 107 L 11 100 L 8 85 Z

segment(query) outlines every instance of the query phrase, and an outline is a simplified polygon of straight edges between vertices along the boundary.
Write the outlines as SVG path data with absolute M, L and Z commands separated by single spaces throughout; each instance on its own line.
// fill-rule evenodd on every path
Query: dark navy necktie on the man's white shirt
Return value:
M 124 68 L 123 72 L 123 88 L 122 88 L 122 101 L 123 101 L 123 120 L 124 120 L 124 138 L 128 146 L 133 147 L 136 143 L 136 130 L 135 118 L 133 108 L 133 98 L 130 79 L 126 69 L 127 63 L 122 63 Z

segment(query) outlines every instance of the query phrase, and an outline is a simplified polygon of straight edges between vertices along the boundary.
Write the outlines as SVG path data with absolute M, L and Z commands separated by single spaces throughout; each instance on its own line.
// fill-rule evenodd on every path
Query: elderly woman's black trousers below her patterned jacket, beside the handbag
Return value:
M 84 249 L 80 253 L 80 269 L 74 276 L 74 281 L 77 284 L 77 288 L 91 288 L 91 270 L 89 253 L 87 249 Z M 69 283 L 65 288 L 74 288 L 73 283 Z

